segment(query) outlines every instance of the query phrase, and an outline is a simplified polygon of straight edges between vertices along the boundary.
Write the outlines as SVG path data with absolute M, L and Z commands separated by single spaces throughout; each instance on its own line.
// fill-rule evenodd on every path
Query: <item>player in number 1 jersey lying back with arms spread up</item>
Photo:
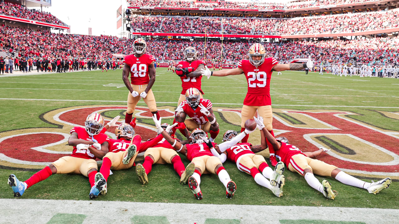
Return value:
M 161 132 L 162 136 L 168 141 L 176 151 L 186 155 L 187 159 L 195 164 L 194 174 L 191 175 L 188 179 L 188 186 L 190 187 L 192 193 L 198 200 L 201 200 L 203 195 L 201 189 L 199 188 L 199 184 L 201 183 L 201 175 L 206 171 L 209 173 L 216 174 L 219 177 L 219 180 L 223 183 L 226 190 L 226 197 L 232 198 L 234 195 L 237 186 L 234 181 L 231 181 L 229 174 L 226 169 L 223 167 L 220 159 L 223 159 L 223 156 L 226 157 L 225 154 L 220 155 L 220 157 L 216 157 L 212 154 L 211 150 L 219 149 L 226 150 L 227 148 L 235 145 L 237 142 L 241 141 L 247 134 L 253 132 L 250 130 L 245 130 L 240 133 L 235 138 L 231 139 L 231 141 L 222 143 L 220 145 L 216 145 L 215 143 L 209 141 L 205 143 L 204 139 L 206 133 L 197 128 L 191 134 L 192 144 L 182 145 L 177 140 L 173 139 L 168 132 L 166 132 L 161 127 L 161 118 L 159 120 L 154 116 L 152 118 L 156 125 L 156 128 L 159 132 Z M 173 124 L 170 127 L 176 126 L 178 123 Z M 169 128 L 169 127 L 168 127 Z M 224 158 L 225 160 L 225 158 Z

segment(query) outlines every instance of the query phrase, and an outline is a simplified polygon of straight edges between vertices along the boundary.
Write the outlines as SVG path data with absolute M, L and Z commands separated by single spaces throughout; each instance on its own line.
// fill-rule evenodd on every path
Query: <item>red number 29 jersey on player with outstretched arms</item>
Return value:
M 248 82 L 248 92 L 244 99 L 244 105 L 271 105 L 270 79 L 273 72 L 272 68 L 278 63 L 274 57 L 265 58 L 265 62 L 258 67 L 255 67 L 249 60 L 245 59 L 242 59 L 238 63 L 238 67 L 243 69 Z

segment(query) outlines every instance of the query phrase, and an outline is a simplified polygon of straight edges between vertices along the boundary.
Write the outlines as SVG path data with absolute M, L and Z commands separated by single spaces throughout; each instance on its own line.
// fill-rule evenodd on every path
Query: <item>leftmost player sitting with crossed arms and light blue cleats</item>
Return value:
M 8 177 L 8 184 L 14 191 L 14 197 L 20 197 L 32 185 L 44 181 L 53 174 L 80 173 L 89 177 L 91 190 L 89 197 L 96 198 L 106 186 L 105 179 L 95 182 L 97 173 L 96 158 L 103 159 L 108 152 L 109 138 L 100 133 L 104 126 L 104 118 L 97 113 L 89 114 L 85 121 L 85 128 L 76 126 L 71 129 L 68 144 L 73 146 L 72 155 L 59 158 L 57 161 L 35 173 L 28 180 L 21 182 L 14 174 Z

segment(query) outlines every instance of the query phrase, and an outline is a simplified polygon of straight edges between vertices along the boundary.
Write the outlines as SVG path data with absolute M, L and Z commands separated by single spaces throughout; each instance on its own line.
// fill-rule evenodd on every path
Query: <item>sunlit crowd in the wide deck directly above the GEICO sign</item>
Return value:
M 164 21 L 162 22 L 162 18 Z M 352 33 L 376 29 L 397 28 L 399 10 L 344 15 L 299 17 L 293 19 L 253 18 L 193 18 L 136 16 L 133 31 L 154 32 L 161 27 L 164 33 L 223 33 L 226 34 L 314 34 Z M 222 27 L 223 24 L 223 27 Z

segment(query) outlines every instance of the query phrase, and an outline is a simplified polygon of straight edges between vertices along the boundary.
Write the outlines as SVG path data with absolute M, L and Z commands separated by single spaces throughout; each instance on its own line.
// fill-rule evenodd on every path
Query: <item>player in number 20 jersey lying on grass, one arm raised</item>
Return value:
M 261 118 L 262 120 L 263 118 Z M 211 150 L 213 155 L 219 157 L 219 153 L 227 155 L 227 159 L 237 164 L 239 171 L 248 173 L 255 179 L 255 182 L 267 189 L 271 190 L 274 195 L 282 196 L 282 187 L 285 183 L 285 177 L 282 175 L 284 172 L 284 163 L 281 161 L 275 166 L 273 171 L 269 165 L 267 165 L 265 157 L 262 155 L 256 155 L 253 151 L 262 151 L 267 148 L 266 138 L 263 134 L 263 129 L 267 132 L 265 125 L 257 125 L 257 128 L 261 131 L 261 145 L 253 146 L 251 143 L 236 143 L 232 147 L 227 148 L 225 151 Z M 237 136 L 237 132 L 234 130 L 228 130 L 223 135 L 223 141 L 229 142 L 231 139 Z M 206 141 L 206 140 L 205 140 Z M 220 149 L 220 147 L 219 147 Z M 221 162 L 224 163 L 226 156 L 223 156 Z M 260 172 L 259 172 L 260 171 Z M 269 181 L 269 180 L 270 181 Z

